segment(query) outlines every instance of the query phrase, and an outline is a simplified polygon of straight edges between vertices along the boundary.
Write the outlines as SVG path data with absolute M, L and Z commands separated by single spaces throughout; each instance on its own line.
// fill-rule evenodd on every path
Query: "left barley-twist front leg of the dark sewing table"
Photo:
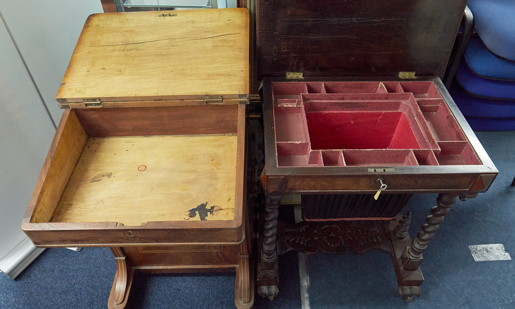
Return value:
M 283 194 L 274 191 L 266 196 L 265 224 L 263 226 L 263 247 L 261 249 L 261 263 L 258 265 L 258 294 L 263 298 L 273 300 L 279 293 L 279 271 L 277 257 L 277 223 L 279 205 Z

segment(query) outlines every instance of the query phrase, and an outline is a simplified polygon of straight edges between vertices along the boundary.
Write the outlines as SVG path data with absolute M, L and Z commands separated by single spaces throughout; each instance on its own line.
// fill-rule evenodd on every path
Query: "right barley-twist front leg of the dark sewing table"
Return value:
M 428 215 L 425 219 L 427 223 L 422 225 L 422 231 L 417 234 L 417 238 L 413 240 L 409 247 L 404 249 L 401 256 L 402 266 L 404 269 L 416 270 L 422 263 L 422 253 L 427 248 L 427 244 L 433 239 L 435 231 L 440 227 L 443 218 L 451 211 L 452 205 L 456 202 L 455 193 L 440 193 L 436 199 L 435 206 L 431 208 L 432 215 Z

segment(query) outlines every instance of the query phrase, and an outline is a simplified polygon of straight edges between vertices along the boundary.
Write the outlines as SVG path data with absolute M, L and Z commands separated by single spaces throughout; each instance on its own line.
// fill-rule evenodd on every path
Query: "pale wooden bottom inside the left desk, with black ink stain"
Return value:
M 51 222 L 233 220 L 235 134 L 88 139 Z M 197 210 L 193 210 L 197 208 Z

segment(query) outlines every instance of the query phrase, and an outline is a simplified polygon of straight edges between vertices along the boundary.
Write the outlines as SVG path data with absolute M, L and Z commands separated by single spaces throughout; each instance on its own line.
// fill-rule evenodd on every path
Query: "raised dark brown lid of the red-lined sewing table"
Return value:
M 258 79 L 443 77 L 467 0 L 260 0 Z

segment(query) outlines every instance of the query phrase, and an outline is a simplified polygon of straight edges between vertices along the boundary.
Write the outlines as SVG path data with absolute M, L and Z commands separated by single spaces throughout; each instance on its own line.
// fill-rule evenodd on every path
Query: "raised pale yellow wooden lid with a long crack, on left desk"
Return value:
M 234 103 L 248 94 L 249 12 L 235 8 L 90 15 L 56 100 Z

